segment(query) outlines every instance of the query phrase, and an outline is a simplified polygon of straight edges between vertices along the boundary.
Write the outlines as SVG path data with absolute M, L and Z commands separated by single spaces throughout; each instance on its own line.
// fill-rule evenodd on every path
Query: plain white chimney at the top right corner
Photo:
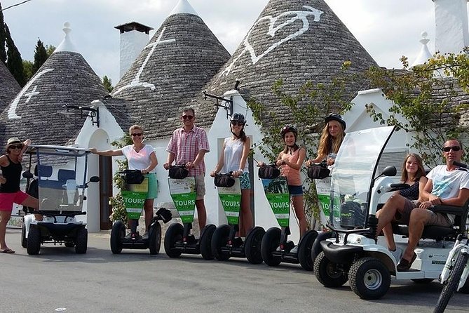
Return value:
M 461 53 L 469 46 L 469 0 L 433 0 L 435 2 L 435 52 Z

